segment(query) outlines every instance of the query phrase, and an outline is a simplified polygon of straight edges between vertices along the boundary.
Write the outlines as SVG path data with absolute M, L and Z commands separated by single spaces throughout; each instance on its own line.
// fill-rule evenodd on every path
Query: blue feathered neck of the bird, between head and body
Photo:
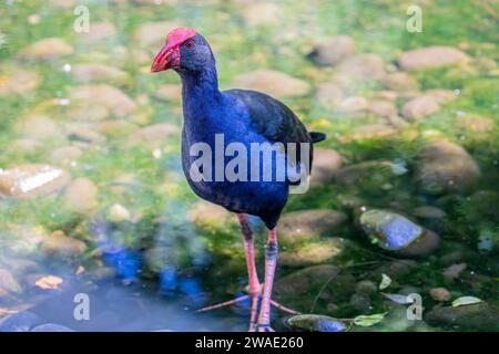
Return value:
M 182 101 L 186 115 L 215 110 L 222 98 L 216 69 L 197 73 L 181 73 Z

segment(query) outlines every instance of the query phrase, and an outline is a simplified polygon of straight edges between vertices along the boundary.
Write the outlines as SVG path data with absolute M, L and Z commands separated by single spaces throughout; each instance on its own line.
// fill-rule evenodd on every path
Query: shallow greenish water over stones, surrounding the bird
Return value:
M 179 79 L 150 74 L 182 25 L 222 87 L 328 135 L 278 227 L 276 300 L 352 331 L 499 331 L 498 3 L 416 3 L 422 32 L 395 0 L 2 0 L 0 329 L 246 330 L 246 303 L 195 312 L 247 280 L 236 219 L 181 171 Z

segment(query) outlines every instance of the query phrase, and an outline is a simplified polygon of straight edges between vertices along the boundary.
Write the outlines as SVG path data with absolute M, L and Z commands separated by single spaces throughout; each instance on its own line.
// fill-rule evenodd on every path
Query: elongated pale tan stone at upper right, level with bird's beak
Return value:
M 403 53 L 398 64 L 404 70 L 440 67 L 468 62 L 469 56 L 451 46 L 428 46 Z

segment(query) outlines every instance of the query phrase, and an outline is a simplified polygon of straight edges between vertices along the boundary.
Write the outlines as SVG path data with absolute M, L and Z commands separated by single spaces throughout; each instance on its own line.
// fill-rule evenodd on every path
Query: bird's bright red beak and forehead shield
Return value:
M 169 69 L 180 67 L 180 45 L 186 40 L 196 35 L 193 29 L 175 29 L 169 33 L 166 45 L 157 53 L 151 65 L 151 72 L 157 73 Z

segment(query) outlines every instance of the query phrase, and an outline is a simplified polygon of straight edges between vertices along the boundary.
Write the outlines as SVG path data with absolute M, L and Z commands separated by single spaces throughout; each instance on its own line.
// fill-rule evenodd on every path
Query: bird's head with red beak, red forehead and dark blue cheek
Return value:
M 202 72 L 214 63 L 210 44 L 193 29 L 174 29 L 166 37 L 166 44 L 157 53 L 151 72 L 173 69 L 177 72 Z

